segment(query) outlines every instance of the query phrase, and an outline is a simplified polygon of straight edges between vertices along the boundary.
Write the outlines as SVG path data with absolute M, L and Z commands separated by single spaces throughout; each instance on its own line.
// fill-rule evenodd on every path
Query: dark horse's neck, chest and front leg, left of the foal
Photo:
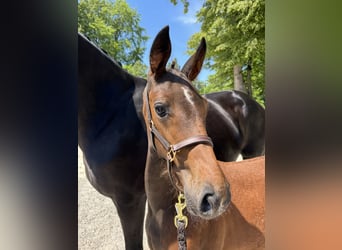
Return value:
M 78 143 L 89 182 L 118 211 L 126 249 L 142 249 L 146 132 L 141 116 L 146 80 L 124 71 L 78 36 Z

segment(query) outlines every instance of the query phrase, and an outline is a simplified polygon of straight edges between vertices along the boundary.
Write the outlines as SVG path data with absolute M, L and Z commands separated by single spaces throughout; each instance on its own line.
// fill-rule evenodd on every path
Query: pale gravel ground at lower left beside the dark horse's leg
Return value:
M 80 148 L 78 148 L 78 249 L 125 249 L 116 208 L 111 199 L 98 193 L 87 180 Z M 149 249 L 145 233 L 144 249 Z

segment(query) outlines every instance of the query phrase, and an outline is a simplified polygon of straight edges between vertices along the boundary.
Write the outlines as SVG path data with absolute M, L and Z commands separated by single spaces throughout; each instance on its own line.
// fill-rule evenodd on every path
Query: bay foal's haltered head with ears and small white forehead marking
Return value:
M 230 189 L 207 136 L 207 101 L 191 84 L 201 70 L 205 51 L 202 38 L 181 71 L 166 69 L 171 54 L 169 27 L 159 32 L 150 52 L 144 118 L 150 128 L 149 145 L 171 162 L 171 181 L 184 192 L 188 211 L 212 219 L 228 207 Z

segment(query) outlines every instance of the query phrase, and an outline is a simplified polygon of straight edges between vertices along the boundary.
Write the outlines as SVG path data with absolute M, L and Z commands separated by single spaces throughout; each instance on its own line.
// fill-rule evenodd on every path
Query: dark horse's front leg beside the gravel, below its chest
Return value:
M 145 216 L 146 195 L 134 195 L 125 202 L 112 198 L 120 217 L 124 232 L 126 250 L 143 249 L 143 225 Z

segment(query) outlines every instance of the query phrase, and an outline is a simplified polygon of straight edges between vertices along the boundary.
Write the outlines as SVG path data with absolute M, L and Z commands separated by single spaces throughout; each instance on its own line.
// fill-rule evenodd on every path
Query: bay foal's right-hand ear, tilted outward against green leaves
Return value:
M 201 43 L 198 46 L 196 53 L 189 58 L 182 68 L 182 72 L 189 78 L 190 81 L 195 80 L 201 71 L 206 50 L 207 45 L 204 37 L 202 37 Z

